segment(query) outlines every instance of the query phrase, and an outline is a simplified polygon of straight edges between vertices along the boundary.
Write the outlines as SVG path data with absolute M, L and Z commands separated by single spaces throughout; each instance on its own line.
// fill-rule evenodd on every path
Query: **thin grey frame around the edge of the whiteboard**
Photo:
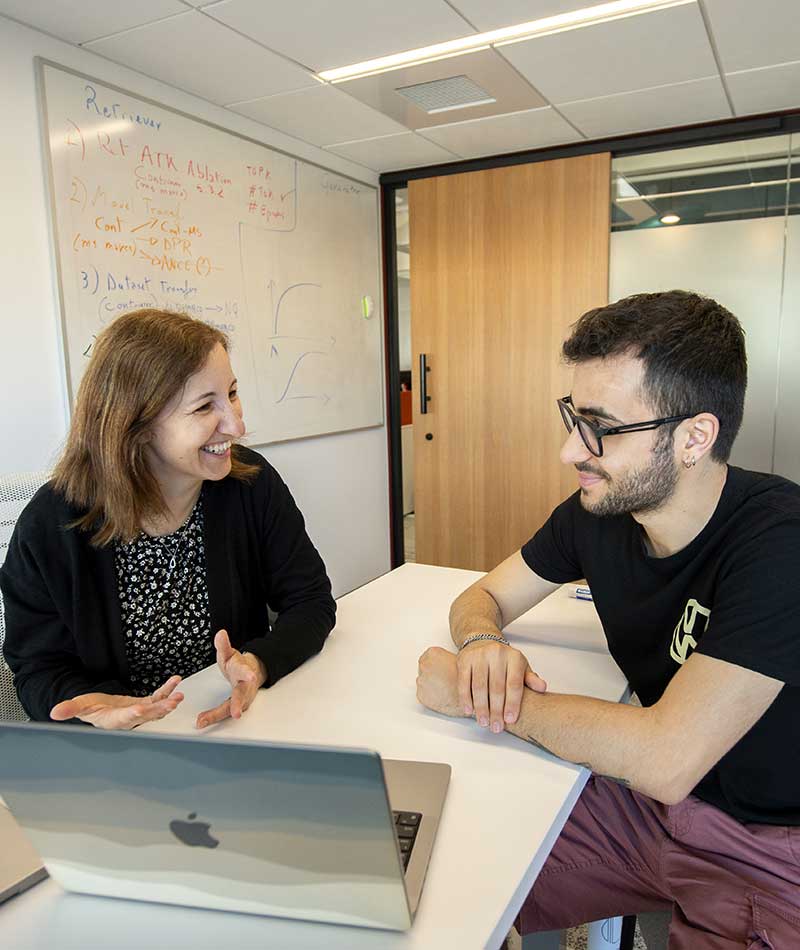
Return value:
M 67 392 L 67 416 L 69 420 L 72 420 L 72 409 L 73 403 L 77 396 L 77 393 L 73 392 L 72 388 L 72 368 L 70 366 L 69 359 L 69 348 L 67 346 L 67 313 L 66 313 L 66 301 L 64 295 L 64 275 L 61 268 L 61 254 L 59 252 L 60 242 L 58 234 L 58 217 L 56 214 L 56 189 L 55 189 L 55 172 L 53 169 L 53 156 L 52 150 L 50 148 L 50 117 L 47 109 L 47 89 L 45 85 L 45 67 L 49 66 L 51 69 L 59 70 L 62 73 L 68 73 L 71 76 L 75 76 L 78 79 L 84 79 L 89 83 L 97 83 L 98 85 L 104 86 L 106 89 L 112 89 L 114 92 L 118 92 L 124 96 L 130 96 L 133 99 L 138 100 L 139 102 L 147 103 L 148 105 L 155 106 L 158 109 L 163 109 L 165 112 L 171 112 L 174 115 L 181 116 L 181 118 L 188 119 L 190 122 L 198 122 L 201 125 L 205 125 L 210 129 L 214 129 L 217 132 L 222 132 L 226 135 L 233 135 L 236 138 L 242 139 L 245 142 L 249 142 L 251 145 L 257 145 L 259 148 L 266 148 L 272 152 L 277 152 L 279 155 L 283 155 L 286 158 L 291 158 L 295 162 L 303 162 L 306 165 L 310 165 L 312 168 L 318 168 L 324 172 L 330 172 L 332 175 L 336 175 L 339 178 L 344 178 L 348 181 L 353 181 L 356 184 L 364 187 L 370 188 L 375 193 L 375 217 L 376 217 L 376 234 L 375 240 L 378 248 L 378 272 L 376 274 L 377 281 L 377 293 L 379 295 L 379 305 L 380 305 L 380 314 L 384 314 L 384 267 L 383 265 L 383 243 L 382 243 L 382 229 L 381 229 L 381 202 L 380 202 L 380 187 L 373 185 L 371 182 L 363 181 L 360 178 L 355 178 L 352 175 L 346 175 L 343 172 L 339 172 L 334 168 L 330 168 L 326 165 L 322 165 L 319 162 L 311 161 L 310 159 L 301 158 L 299 155 L 295 155 L 292 152 L 287 152 L 285 149 L 278 148 L 276 146 L 270 145 L 267 142 L 262 142 L 259 139 L 252 138 L 249 135 L 245 135 L 242 132 L 236 132 L 233 129 L 226 128 L 224 125 L 218 125 L 216 122 L 211 122 L 208 119 L 198 118 L 196 115 L 192 115 L 189 112 L 184 112 L 182 109 L 174 108 L 173 106 L 164 105 L 163 102 L 159 102 L 157 99 L 151 99 L 149 96 L 141 95 L 140 93 L 133 92 L 130 89 L 126 89 L 123 86 L 117 86 L 114 83 L 108 82 L 105 79 L 98 78 L 96 76 L 90 76 L 87 73 L 82 72 L 79 69 L 72 69 L 69 66 L 64 66 L 61 63 L 56 63 L 51 59 L 47 59 L 44 56 L 34 56 L 34 69 L 36 74 L 36 86 L 37 86 L 37 99 L 39 104 L 39 127 L 42 132 L 42 149 L 44 152 L 43 158 L 46 169 L 46 181 L 47 181 L 47 196 L 48 202 L 50 205 L 50 252 L 54 259 L 56 279 L 58 283 L 58 304 L 59 312 L 61 319 L 60 324 L 60 339 L 59 343 L 61 345 L 61 351 L 63 355 L 62 365 L 65 368 L 66 376 L 66 392 Z M 148 77 L 155 78 L 155 77 Z M 178 92 L 181 92 L 184 95 L 192 95 L 183 89 L 179 89 Z M 223 106 L 216 106 L 215 103 L 209 103 L 215 108 L 224 108 Z M 246 118 L 246 116 L 243 116 Z M 297 442 L 300 440 L 306 439 L 324 439 L 327 436 L 331 435 L 342 435 L 347 432 L 362 432 L 366 429 L 378 429 L 386 426 L 386 326 L 385 319 L 380 320 L 380 334 L 381 334 L 381 345 L 380 345 L 380 355 L 381 355 L 381 387 L 380 387 L 380 397 L 381 397 L 381 410 L 380 410 L 380 422 L 372 423 L 366 426 L 356 426 L 354 428 L 348 429 L 337 429 L 332 432 L 319 432 L 313 435 L 300 435 L 292 436 L 287 439 L 276 439 L 270 442 L 255 442 L 250 443 L 247 438 L 247 433 L 245 433 L 242 443 L 249 445 L 280 445 L 287 442 Z

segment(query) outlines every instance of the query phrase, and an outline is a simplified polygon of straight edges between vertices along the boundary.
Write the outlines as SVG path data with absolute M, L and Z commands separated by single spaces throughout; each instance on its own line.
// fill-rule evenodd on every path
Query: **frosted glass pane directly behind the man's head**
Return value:
M 783 217 L 755 218 L 611 235 L 610 300 L 633 293 L 694 290 L 718 300 L 741 321 L 748 385 L 731 462 L 761 472 L 773 470 L 784 224 Z M 784 322 L 789 319 L 784 314 Z M 800 317 L 794 314 L 793 319 Z M 791 359 L 796 372 L 797 355 Z

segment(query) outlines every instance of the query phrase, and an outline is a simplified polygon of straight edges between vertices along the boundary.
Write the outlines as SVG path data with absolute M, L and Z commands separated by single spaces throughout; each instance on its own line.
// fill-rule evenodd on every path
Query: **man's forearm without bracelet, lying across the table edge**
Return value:
M 519 719 L 506 731 L 557 758 L 582 765 L 651 798 L 684 797 L 671 779 L 679 768 L 659 743 L 652 709 L 586 696 L 525 690 Z

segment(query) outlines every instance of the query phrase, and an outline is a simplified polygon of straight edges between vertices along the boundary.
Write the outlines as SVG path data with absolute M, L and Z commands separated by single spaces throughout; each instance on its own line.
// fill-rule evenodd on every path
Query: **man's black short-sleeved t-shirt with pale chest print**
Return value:
M 785 683 L 694 789 L 740 821 L 800 825 L 800 486 L 729 467 L 711 520 L 650 557 L 630 515 L 598 518 L 576 492 L 522 548 L 540 577 L 585 577 L 611 655 L 657 702 L 693 651 Z

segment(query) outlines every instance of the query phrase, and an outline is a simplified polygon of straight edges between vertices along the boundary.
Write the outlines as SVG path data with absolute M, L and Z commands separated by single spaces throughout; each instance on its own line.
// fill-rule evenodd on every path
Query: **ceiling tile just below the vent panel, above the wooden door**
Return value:
M 580 134 L 550 107 L 454 122 L 425 129 L 420 134 L 463 158 L 521 152 L 581 140 Z

